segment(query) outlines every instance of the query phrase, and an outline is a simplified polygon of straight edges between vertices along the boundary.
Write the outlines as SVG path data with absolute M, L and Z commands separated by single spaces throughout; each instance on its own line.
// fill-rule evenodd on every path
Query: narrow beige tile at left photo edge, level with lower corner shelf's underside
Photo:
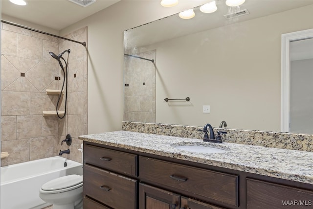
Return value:
M 1 140 L 16 139 L 16 116 L 1 116 Z

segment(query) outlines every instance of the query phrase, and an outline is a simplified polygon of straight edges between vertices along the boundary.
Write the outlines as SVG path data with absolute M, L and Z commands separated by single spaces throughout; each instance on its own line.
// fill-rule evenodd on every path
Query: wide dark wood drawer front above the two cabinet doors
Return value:
M 238 176 L 139 157 L 139 177 L 201 199 L 238 206 Z

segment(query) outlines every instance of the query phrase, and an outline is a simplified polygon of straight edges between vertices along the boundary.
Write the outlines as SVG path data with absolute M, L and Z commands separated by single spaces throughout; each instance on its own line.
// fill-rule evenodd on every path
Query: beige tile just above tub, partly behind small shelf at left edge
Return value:
M 15 164 L 29 161 L 29 139 L 2 141 L 2 152 L 8 152 L 6 163 Z

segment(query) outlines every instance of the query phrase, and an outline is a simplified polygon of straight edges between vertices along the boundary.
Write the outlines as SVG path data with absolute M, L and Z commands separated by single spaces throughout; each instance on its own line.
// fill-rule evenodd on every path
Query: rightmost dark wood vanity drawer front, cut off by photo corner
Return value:
M 247 209 L 308 209 L 313 191 L 246 179 Z

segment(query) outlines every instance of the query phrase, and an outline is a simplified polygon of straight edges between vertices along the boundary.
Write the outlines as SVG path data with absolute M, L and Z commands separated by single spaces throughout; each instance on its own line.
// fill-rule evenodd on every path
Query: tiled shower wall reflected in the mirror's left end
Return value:
M 156 50 L 135 55 L 156 60 Z M 156 122 L 156 66 L 151 61 L 124 56 L 124 120 Z

